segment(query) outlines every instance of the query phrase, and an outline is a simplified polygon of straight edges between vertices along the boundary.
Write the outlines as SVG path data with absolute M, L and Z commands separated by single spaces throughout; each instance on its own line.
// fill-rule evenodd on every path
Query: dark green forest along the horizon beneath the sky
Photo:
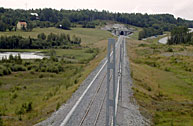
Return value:
M 38 17 L 31 15 L 37 13 Z M 59 27 L 69 29 L 71 23 L 85 23 L 84 27 L 94 27 L 95 20 L 112 20 L 124 24 L 134 25 L 142 28 L 159 29 L 160 31 L 171 31 L 175 26 L 193 27 L 193 21 L 175 18 L 171 14 L 140 14 L 140 13 L 112 13 L 98 10 L 55 10 L 45 9 L 5 9 L 0 8 L 0 25 L 14 27 L 18 21 L 23 20 L 33 24 L 33 27 Z M 67 22 L 67 23 L 66 23 Z M 88 25 L 87 25 L 88 24 Z M 4 28 L 5 29 L 5 28 Z M 0 30 L 4 30 L 0 29 Z

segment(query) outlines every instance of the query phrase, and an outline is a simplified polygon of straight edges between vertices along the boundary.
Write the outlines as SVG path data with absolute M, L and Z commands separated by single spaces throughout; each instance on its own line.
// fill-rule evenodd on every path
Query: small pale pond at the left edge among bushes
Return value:
M 21 59 L 43 59 L 45 56 L 39 52 L 0 52 L 0 60 L 4 57 L 9 58 L 9 55 L 17 56 L 20 54 Z

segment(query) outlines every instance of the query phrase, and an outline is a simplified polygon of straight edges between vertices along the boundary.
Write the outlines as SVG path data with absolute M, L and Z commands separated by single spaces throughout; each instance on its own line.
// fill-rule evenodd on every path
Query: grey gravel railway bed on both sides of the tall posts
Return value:
M 123 37 L 119 38 L 122 41 Z M 116 63 L 116 77 L 118 77 L 118 62 L 119 62 L 119 47 L 120 43 L 117 44 L 117 63 Z M 125 52 L 125 60 L 123 67 L 123 92 L 122 92 L 122 103 L 118 104 L 118 115 L 117 115 L 117 125 L 118 126 L 146 126 L 149 125 L 148 121 L 140 114 L 138 106 L 136 103 L 131 102 L 133 98 L 132 92 L 132 81 L 130 77 L 130 71 L 128 66 L 128 59 Z M 66 104 L 62 105 L 60 109 L 54 112 L 51 117 L 42 121 L 35 126 L 60 126 L 62 121 L 65 119 L 66 115 L 70 112 L 72 107 L 75 105 L 77 100 L 83 94 L 85 89 L 89 86 L 95 75 L 101 69 L 105 63 L 106 58 L 101 61 L 99 66 L 86 78 L 86 80 L 81 84 L 79 89 L 72 95 L 72 97 L 67 101 Z M 75 111 L 68 120 L 66 126 L 80 126 L 82 121 L 82 126 L 105 126 L 106 119 L 106 70 L 104 69 L 100 72 L 99 76 L 93 82 L 82 101 L 78 104 Z M 111 80 L 112 81 L 112 80 Z M 117 78 L 116 78 L 117 82 Z M 112 99 L 112 84 L 110 85 L 110 98 Z M 135 101 L 132 99 L 132 101 Z M 89 109 L 88 109 L 89 108 Z M 86 114 L 86 116 L 85 116 Z M 112 110 L 110 111 L 112 115 Z M 99 115 L 99 116 L 98 116 Z M 98 116 L 98 118 L 97 118 Z M 97 120 L 96 120 L 97 119 Z M 97 123 L 95 123 L 97 121 Z

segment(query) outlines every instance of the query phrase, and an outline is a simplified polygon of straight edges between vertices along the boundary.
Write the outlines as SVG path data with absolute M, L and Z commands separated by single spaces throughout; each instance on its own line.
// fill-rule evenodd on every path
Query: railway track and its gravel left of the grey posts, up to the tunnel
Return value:
M 119 76 L 120 43 L 124 38 L 119 37 L 116 43 L 116 76 Z M 111 53 L 112 60 L 112 53 Z M 59 111 L 49 119 L 36 126 L 104 126 L 107 98 L 107 59 L 93 71 L 70 99 Z M 110 74 L 112 81 L 112 73 Z M 110 85 L 110 99 L 112 99 L 113 86 Z M 112 115 L 112 111 L 110 111 Z M 112 121 L 112 119 L 110 119 Z

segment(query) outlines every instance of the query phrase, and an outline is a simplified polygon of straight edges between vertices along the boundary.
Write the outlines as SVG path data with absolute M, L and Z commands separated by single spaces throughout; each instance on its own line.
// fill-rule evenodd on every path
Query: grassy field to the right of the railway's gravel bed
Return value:
M 193 125 L 193 46 L 129 39 L 134 96 L 156 126 Z

